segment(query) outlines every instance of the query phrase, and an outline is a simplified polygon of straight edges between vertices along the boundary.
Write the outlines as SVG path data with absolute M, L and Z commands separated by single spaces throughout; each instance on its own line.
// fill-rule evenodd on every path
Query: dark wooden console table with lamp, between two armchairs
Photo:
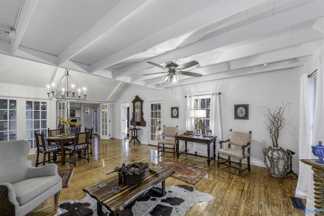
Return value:
M 208 166 L 210 166 L 211 164 L 211 160 L 216 159 L 216 153 L 215 153 L 215 149 L 216 149 L 216 138 L 217 137 L 203 137 L 203 136 L 187 136 L 187 135 L 177 135 L 176 140 L 177 140 L 177 146 L 176 146 L 176 151 L 177 151 L 177 158 L 179 159 L 179 155 L 180 154 L 190 154 L 190 155 L 194 155 L 194 156 L 199 156 L 199 157 L 205 157 L 207 158 L 207 164 Z M 185 141 L 185 150 L 184 152 L 179 152 L 179 140 Z M 187 150 L 187 142 L 194 142 L 194 143 L 203 143 L 207 145 L 207 157 L 206 156 L 202 156 L 202 155 L 197 155 L 197 152 L 195 152 L 194 154 L 192 153 L 188 153 Z M 213 143 L 213 147 L 214 147 L 214 154 L 211 157 L 210 156 L 210 144 Z

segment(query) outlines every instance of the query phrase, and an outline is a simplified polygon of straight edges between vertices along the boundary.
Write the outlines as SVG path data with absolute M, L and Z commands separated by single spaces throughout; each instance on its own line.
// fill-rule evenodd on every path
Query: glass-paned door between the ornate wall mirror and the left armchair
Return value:
M 160 139 L 161 131 L 161 101 L 154 101 L 149 103 L 150 106 L 150 124 L 149 124 L 149 144 L 157 145 Z

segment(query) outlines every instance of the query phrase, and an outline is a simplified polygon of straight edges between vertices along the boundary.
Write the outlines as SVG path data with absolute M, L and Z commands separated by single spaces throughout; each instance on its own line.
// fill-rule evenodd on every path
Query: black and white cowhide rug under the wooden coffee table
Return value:
M 130 203 L 123 210 L 123 215 L 161 215 L 176 216 L 184 215 L 192 205 L 198 202 L 212 201 L 213 196 L 208 193 L 201 193 L 186 185 L 171 185 L 166 188 L 166 195 L 161 196 L 148 191 L 134 202 Z M 102 211 L 109 214 L 109 210 L 102 207 Z M 54 216 L 74 215 L 97 215 L 97 201 L 88 194 L 81 200 L 66 200 L 60 202 L 59 208 Z

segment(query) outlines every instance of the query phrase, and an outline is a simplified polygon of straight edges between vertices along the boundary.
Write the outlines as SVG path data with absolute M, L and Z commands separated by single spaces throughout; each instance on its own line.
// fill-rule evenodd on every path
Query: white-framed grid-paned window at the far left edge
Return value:
M 0 141 L 17 140 L 17 101 L 0 100 Z

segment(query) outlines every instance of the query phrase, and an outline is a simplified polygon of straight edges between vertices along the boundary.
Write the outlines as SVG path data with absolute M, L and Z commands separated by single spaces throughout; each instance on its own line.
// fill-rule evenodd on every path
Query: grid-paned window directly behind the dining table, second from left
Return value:
M 44 133 L 47 128 L 47 103 L 39 101 L 26 101 L 26 139 L 30 148 L 36 148 L 34 133 Z

